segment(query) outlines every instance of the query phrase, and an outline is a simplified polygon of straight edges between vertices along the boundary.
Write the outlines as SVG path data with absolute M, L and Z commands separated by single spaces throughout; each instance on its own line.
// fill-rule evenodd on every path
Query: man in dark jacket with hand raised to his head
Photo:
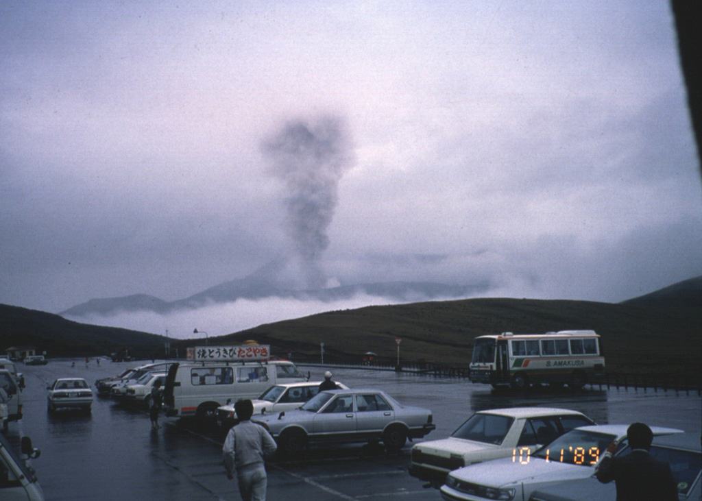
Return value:
M 597 467 L 597 480 L 616 483 L 616 501 L 677 501 L 677 486 L 670 465 L 649 454 L 654 434 L 642 422 L 626 432 L 631 453 L 612 457 L 617 444 L 612 442 Z

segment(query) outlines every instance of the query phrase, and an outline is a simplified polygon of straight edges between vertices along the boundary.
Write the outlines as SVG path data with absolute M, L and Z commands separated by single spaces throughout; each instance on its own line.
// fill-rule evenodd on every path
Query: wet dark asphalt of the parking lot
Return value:
M 92 415 L 72 411 L 48 415 L 46 386 L 55 378 L 85 378 L 91 387 L 98 378 L 141 363 L 100 365 L 52 360 L 46 366 L 23 366 L 27 387 L 22 393 L 24 417 L 10 425 L 8 439 L 32 438 L 41 456 L 31 460 L 48 500 L 238 500 L 236 481 L 229 481 L 222 464 L 225 432 L 195 422 L 161 416 L 161 429 L 152 431 L 145 410 L 95 398 Z M 143 363 L 149 363 L 144 361 Z M 334 379 L 350 387 L 376 387 L 401 403 L 430 408 L 437 429 L 424 440 L 449 436 L 477 410 L 511 406 L 550 406 L 579 410 L 596 422 L 634 420 L 700 434 L 702 399 L 697 392 L 658 389 L 607 389 L 586 386 L 534 389 L 526 394 L 496 391 L 468 380 L 392 371 L 329 368 Z M 300 366 L 321 380 L 326 368 Z M 415 441 L 416 442 L 416 441 Z M 412 443 L 399 453 L 382 446 L 349 445 L 312 448 L 294 460 L 267 463 L 268 496 L 275 500 L 439 500 L 437 490 L 423 488 L 409 476 Z

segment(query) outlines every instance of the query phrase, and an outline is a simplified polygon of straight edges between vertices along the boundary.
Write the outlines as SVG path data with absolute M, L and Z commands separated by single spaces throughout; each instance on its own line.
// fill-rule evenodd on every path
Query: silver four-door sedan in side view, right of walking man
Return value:
M 252 419 L 267 427 L 282 453 L 296 454 L 311 443 L 383 441 L 399 450 L 407 439 L 436 428 L 432 411 L 403 406 L 379 389 L 320 392 L 302 407 Z

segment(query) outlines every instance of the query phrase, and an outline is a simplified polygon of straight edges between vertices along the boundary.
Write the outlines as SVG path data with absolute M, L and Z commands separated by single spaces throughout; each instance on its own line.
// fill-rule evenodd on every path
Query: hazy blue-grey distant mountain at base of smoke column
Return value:
M 338 286 L 318 290 L 296 290 L 292 284 L 281 279 L 284 263 L 271 262 L 253 274 L 220 283 L 191 295 L 188 298 L 164 301 L 154 296 L 136 294 L 123 298 L 92 299 L 66 309 L 62 316 L 85 317 L 98 314 L 107 316 L 118 312 L 155 312 L 164 314 L 176 310 L 197 309 L 213 303 L 234 302 L 239 299 L 258 300 L 263 298 L 293 298 L 298 300 L 350 299 L 355 295 L 366 294 L 396 302 L 427 301 L 435 299 L 467 298 L 470 295 L 488 290 L 484 281 L 471 286 L 452 286 L 434 282 L 380 282 Z

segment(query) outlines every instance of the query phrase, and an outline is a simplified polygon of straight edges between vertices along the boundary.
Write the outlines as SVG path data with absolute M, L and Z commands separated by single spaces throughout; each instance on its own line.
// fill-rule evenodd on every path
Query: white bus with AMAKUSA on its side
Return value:
M 600 335 L 594 330 L 545 334 L 483 335 L 473 342 L 470 380 L 520 389 L 531 384 L 567 384 L 580 389 L 604 373 Z

